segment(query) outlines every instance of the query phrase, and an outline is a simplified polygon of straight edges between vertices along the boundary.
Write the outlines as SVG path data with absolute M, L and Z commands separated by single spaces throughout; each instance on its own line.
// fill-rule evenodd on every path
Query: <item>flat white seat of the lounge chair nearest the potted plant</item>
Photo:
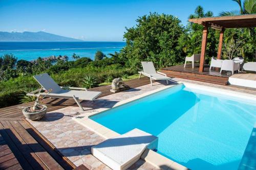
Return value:
M 61 90 L 56 94 L 62 95 L 75 95 L 75 98 L 78 100 L 88 100 L 92 101 L 97 98 L 101 94 L 100 91 L 81 91 L 81 90 Z M 51 93 L 51 95 L 54 95 Z

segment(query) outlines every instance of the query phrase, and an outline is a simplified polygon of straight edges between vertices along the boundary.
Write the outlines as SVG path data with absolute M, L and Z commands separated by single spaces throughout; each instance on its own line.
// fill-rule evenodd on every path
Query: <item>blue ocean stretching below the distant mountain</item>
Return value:
M 38 57 L 68 56 L 69 61 L 73 60 L 75 53 L 80 57 L 94 59 L 97 51 L 106 56 L 119 52 L 125 42 L 0 42 L 0 56 L 13 54 L 18 60 L 35 60 Z

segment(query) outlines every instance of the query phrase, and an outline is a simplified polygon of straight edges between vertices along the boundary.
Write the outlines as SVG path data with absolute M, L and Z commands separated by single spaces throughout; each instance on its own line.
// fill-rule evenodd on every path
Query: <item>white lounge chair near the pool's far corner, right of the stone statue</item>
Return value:
M 153 62 L 141 62 L 143 71 L 139 71 L 140 76 L 145 75 L 150 78 L 151 85 L 153 85 L 152 80 L 166 80 L 166 83 L 169 84 L 168 80 L 171 80 L 171 78 L 167 77 L 166 74 L 163 74 L 162 72 L 156 71 Z M 140 79 L 139 76 L 139 79 Z

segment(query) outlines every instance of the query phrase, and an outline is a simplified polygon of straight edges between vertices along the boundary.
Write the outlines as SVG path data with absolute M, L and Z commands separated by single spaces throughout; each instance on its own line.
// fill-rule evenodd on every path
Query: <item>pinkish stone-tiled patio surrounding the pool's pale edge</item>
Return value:
M 236 87 L 202 83 L 178 78 L 175 78 L 174 80 L 256 94 L 255 90 L 240 89 Z M 105 139 L 86 127 L 78 124 L 72 119 L 72 117 L 83 117 L 84 114 L 88 114 L 89 112 L 91 113 L 101 109 L 112 108 L 117 102 L 163 86 L 166 86 L 165 81 L 156 82 L 153 86 L 150 84 L 144 85 L 124 92 L 104 96 L 95 102 L 83 102 L 82 106 L 84 109 L 86 109 L 86 111 L 81 111 L 77 106 L 70 106 L 48 112 L 46 117 L 40 121 L 36 122 L 29 120 L 29 122 L 76 166 L 84 164 L 89 169 L 110 169 L 108 166 L 91 155 L 91 147 Z M 157 168 L 150 163 L 139 160 L 129 169 Z

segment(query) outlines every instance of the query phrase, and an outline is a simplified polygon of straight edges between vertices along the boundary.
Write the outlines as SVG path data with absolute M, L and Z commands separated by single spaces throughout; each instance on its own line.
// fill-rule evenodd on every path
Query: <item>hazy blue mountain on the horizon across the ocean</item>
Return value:
M 0 32 L 0 41 L 82 41 L 46 32 Z

